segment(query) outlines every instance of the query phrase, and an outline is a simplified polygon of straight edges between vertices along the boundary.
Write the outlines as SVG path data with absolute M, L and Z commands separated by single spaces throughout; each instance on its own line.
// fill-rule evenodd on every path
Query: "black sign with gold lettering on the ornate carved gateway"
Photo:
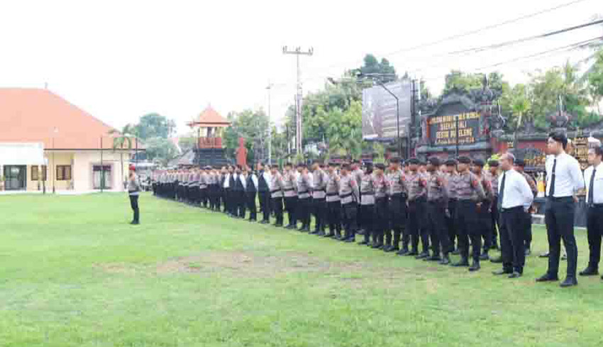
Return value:
M 432 116 L 427 120 L 429 141 L 432 145 L 456 145 L 475 143 L 480 132 L 480 113 L 468 112 L 450 116 Z

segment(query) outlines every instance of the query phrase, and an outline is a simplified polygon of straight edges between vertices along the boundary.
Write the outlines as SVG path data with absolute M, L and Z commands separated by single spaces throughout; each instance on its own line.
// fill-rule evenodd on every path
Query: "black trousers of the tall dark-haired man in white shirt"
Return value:
M 561 240 L 568 254 L 568 277 L 576 276 L 578 248 L 574 236 L 573 197 L 548 198 L 544 219 L 548 236 L 548 274 L 558 275 Z

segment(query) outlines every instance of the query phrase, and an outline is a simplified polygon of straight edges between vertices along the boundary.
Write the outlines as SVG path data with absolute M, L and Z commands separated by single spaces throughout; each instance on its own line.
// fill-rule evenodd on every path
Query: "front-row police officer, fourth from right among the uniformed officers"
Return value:
M 400 236 L 406 224 L 406 182 L 404 174 L 400 170 L 400 158 L 390 160 L 390 171 L 387 176 L 389 186 L 389 228 L 385 231 L 385 252 L 400 250 Z M 392 243 L 392 233 L 394 239 Z M 408 253 L 408 243 L 404 243 L 400 255 Z M 414 254 L 416 255 L 416 253 Z

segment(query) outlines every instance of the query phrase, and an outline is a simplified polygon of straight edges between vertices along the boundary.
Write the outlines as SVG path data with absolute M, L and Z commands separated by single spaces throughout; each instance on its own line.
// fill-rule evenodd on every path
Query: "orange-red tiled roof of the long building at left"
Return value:
M 55 132 L 55 129 L 57 130 Z M 111 126 L 46 89 L 0 88 L 0 142 L 52 149 L 111 149 Z

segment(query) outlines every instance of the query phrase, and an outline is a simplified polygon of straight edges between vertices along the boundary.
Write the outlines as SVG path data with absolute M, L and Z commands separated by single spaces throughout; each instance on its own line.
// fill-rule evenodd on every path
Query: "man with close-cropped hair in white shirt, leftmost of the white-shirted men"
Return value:
M 499 177 L 498 201 L 500 219 L 500 250 L 502 270 L 494 275 L 509 274 L 509 278 L 521 277 L 526 263 L 526 228 L 524 211 L 533 201 L 530 186 L 523 175 L 513 170 L 515 158 L 505 153 L 500 158 L 502 175 Z

